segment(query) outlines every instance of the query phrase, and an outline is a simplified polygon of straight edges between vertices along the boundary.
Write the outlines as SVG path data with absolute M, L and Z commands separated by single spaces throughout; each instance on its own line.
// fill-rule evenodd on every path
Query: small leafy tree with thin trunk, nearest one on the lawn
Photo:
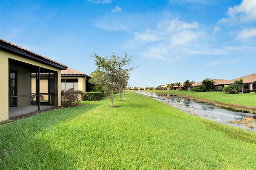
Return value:
M 119 57 L 112 52 L 111 57 L 108 55 L 100 57 L 99 55 L 91 55 L 95 59 L 97 66 L 95 76 L 92 76 L 90 83 L 96 86 L 102 86 L 104 92 L 110 96 L 111 107 L 114 107 L 114 88 L 124 87 L 124 82 L 129 79 L 130 72 L 134 70 L 132 57 Z M 124 81 L 125 80 L 125 81 Z

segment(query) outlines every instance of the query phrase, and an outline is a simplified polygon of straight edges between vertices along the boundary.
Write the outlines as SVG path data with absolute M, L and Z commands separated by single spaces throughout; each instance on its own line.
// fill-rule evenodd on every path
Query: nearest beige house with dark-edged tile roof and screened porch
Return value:
M 62 63 L 0 39 L 0 121 L 60 106 L 61 70 L 66 69 Z M 46 91 L 41 91 L 42 82 L 47 82 Z M 40 101 L 42 95 L 47 96 L 44 105 Z

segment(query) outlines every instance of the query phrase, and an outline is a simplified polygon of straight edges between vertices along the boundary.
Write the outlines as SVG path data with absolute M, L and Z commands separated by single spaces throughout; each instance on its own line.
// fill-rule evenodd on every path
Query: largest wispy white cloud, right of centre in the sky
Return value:
M 140 49 L 145 57 L 171 61 L 182 57 L 184 49 L 193 47 L 203 40 L 206 32 L 199 30 L 197 22 L 186 23 L 180 20 L 171 20 L 158 23 L 156 29 L 147 29 L 144 32 L 134 33 L 134 40 L 126 43 L 130 48 Z M 200 46 L 200 45 L 199 45 Z M 195 53 L 204 53 L 200 47 Z

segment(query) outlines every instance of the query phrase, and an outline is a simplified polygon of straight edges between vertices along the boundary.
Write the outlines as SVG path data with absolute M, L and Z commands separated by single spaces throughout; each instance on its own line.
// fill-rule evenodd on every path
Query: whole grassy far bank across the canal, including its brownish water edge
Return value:
M 248 112 L 256 113 L 256 95 L 250 93 L 228 94 L 225 92 L 194 92 L 194 91 L 149 91 L 154 93 L 172 93 L 181 96 L 194 97 L 200 101 L 221 105 L 230 109 L 247 109 Z

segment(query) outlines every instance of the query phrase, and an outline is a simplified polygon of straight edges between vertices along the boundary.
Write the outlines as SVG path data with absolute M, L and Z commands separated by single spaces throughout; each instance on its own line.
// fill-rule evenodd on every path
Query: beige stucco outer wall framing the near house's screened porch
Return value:
M 58 68 L 55 68 L 55 67 L 52 67 L 52 66 L 49 66 L 49 65 L 46 65 L 44 63 L 40 63 L 40 62 L 37 62 L 37 61 L 33 61 L 31 59 L 27 59 L 27 58 L 24 58 L 24 57 L 21 57 L 19 55 L 15 55 L 15 54 L 12 54 L 12 53 L 8 53 L 6 51 L 2 51 L 0 50 L 0 121 L 4 121 L 4 120 L 7 120 L 9 118 L 9 105 L 8 105 L 8 90 L 9 90 L 9 83 L 8 83 L 8 78 L 9 78 L 9 62 L 8 62 L 8 59 L 14 59 L 14 60 L 17 60 L 17 61 L 21 61 L 21 62 L 24 62 L 24 63 L 28 63 L 28 64 L 31 64 L 31 65 L 36 65 L 36 66 L 39 66 L 39 67 L 43 67 L 43 68 L 46 68 L 46 69 L 50 69 L 50 70 L 53 70 L 53 71 L 57 71 L 58 74 L 57 74 L 57 85 L 58 85 L 58 103 L 57 105 L 60 106 L 61 105 L 61 73 L 60 73 L 60 69 Z M 19 73 L 17 73 L 18 77 L 17 77 L 17 80 L 18 80 L 18 89 L 17 89 L 17 92 L 18 92 L 18 95 L 30 95 L 27 94 L 28 91 L 30 92 L 30 89 L 31 87 L 27 87 L 28 83 L 27 81 L 30 81 L 30 76 L 28 76 L 26 79 L 20 79 L 19 77 L 22 77 L 22 76 L 25 76 L 26 74 L 30 74 L 30 73 L 26 73 L 26 69 L 22 69 L 22 70 L 19 70 Z M 26 82 L 26 87 L 24 87 L 24 84 Z M 30 105 L 30 102 L 27 102 L 24 100 L 23 101 L 20 101 L 22 100 L 22 98 L 24 97 L 20 97 L 20 99 L 18 99 L 18 107 L 20 106 L 24 106 L 24 105 Z M 29 97 L 30 98 L 30 97 Z M 28 100 L 30 101 L 30 100 Z

